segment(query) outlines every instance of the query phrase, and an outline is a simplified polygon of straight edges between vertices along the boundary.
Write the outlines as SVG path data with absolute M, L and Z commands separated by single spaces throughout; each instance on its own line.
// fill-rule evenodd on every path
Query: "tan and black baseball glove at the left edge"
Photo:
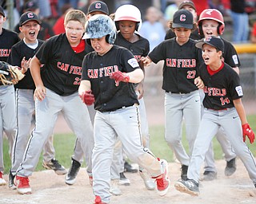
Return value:
M 14 85 L 25 77 L 16 66 L 0 61 L 0 85 Z

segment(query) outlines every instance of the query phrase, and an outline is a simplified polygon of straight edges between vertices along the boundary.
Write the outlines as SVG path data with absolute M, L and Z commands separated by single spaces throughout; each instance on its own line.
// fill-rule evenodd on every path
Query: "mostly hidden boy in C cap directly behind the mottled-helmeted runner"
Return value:
M 90 19 L 90 17 L 96 14 L 109 14 L 109 9 L 105 2 L 96 1 L 90 4 L 87 12 L 87 19 Z M 94 49 L 92 49 L 92 47 L 86 43 L 86 53 L 90 53 L 91 51 L 94 51 Z M 87 108 L 90 114 L 90 120 L 94 121 L 95 110 L 93 106 L 87 106 Z M 72 155 L 71 157 L 71 167 L 65 178 L 66 184 L 73 185 L 76 181 L 76 176 L 78 175 L 78 171 L 80 170 L 80 167 L 82 165 L 83 157 L 84 153 L 82 151 L 81 142 L 76 139 L 74 146 L 74 155 Z M 93 178 L 91 175 L 89 176 L 89 179 L 90 185 L 92 185 Z

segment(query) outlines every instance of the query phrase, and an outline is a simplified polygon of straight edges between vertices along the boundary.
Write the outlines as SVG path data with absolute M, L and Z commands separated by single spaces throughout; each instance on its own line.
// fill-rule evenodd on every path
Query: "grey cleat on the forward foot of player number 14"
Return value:
M 178 180 L 178 182 L 175 182 L 174 187 L 176 190 L 190 194 L 192 196 L 198 196 L 199 195 L 199 187 L 198 187 L 198 182 L 188 179 L 188 180 Z

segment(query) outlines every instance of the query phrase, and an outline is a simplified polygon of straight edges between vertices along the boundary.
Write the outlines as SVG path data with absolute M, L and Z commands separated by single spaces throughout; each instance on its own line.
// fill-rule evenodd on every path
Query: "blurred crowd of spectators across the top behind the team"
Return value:
M 95 0 L 4 0 L 1 6 L 7 14 L 8 4 L 13 1 L 14 28 L 10 28 L 8 22 L 5 24 L 7 29 L 14 29 L 19 33 L 18 19 L 22 13 L 27 10 L 36 12 L 42 18 L 42 28 L 44 33 L 39 34 L 39 38 L 46 40 L 54 34 L 63 33 L 63 21 L 67 11 L 70 9 L 82 10 L 87 13 L 88 6 Z M 103 0 L 109 6 L 110 14 L 123 4 L 133 4 L 137 6 L 142 13 L 143 26 L 141 34 L 150 41 L 150 50 L 164 40 L 168 29 L 168 22 L 182 0 Z M 256 43 L 256 1 L 255 0 L 194 0 L 197 15 L 201 14 L 206 8 L 220 10 L 224 18 L 232 26 L 232 38 L 234 43 L 253 42 Z M 251 18 L 250 18 L 251 17 Z M 9 17 L 10 18 L 10 17 Z M 234 23 L 236 22 L 236 23 Z

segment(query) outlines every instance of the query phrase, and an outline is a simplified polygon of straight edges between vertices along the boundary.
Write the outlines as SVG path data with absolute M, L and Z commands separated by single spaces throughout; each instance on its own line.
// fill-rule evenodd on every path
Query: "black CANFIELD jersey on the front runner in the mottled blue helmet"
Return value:
M 92 52 L 82 62 L 82 80 L 90 80 L 95 97 L 94 108 L 100 112 L 115 111 L 118 108 L 138 104 L 134 84 L 110 79 L 111 73 L 130 73 L 140 69 L 134 55 L 126 48 L 114 45 L 103 56 Z

